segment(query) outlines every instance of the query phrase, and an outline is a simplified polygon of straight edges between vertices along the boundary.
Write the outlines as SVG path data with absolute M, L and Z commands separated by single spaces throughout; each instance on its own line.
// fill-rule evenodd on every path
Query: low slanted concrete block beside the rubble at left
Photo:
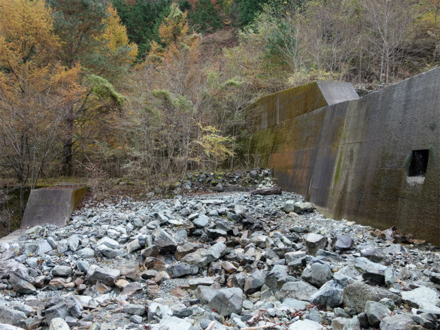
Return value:
M 21 228 L 50 223 L 61 227 L 83 199 L 87 188 L 32 190 L 21 220 Z

